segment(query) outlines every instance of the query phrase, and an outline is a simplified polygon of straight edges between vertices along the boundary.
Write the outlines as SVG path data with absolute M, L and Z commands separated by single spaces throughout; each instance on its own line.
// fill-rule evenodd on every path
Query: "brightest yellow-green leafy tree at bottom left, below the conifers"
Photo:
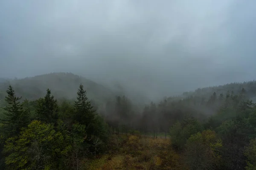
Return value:
M 51 164 L 51 151 L 55 130 L 50 124 L 33 121 L 18 137 L 7 139 L 4 148 L 6 164 L 12 169 L 44 169 Z

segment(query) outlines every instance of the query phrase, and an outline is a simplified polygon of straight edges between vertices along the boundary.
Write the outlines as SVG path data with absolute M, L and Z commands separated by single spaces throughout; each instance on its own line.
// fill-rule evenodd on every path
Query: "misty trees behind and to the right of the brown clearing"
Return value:
M 125 96 L 117 97 L 107 121 L 116 133 L 138 130 L 153 138 L 160 132 L 169 134 L 172 147 L 190 170 L 254 170 L 256 105 L 251 96 L 239 88 L 213 92 L 208 98 L 170 97 L 151 102 L 138 114 Z

